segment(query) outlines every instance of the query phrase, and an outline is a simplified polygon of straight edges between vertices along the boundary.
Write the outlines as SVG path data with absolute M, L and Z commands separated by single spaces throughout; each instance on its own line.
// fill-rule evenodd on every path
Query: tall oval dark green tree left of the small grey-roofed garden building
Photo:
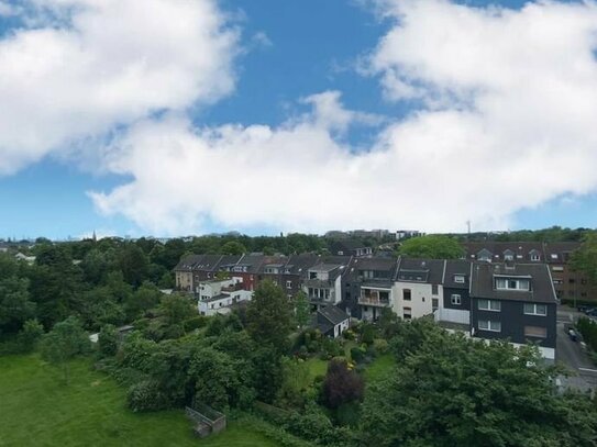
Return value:
M 272 281 L 261 282 L 246 309 L 247 332 L 261 345 L 283 353 L 292 329 L 292 310 L 284 291 Z

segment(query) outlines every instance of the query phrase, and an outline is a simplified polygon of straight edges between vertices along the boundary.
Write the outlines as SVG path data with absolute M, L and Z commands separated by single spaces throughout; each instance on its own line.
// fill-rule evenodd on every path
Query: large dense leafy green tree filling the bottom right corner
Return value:
M 561 396 L 557 373 L 534 346 L 517 349 L 430 328 L 393 373 L 367 388 L 362 445 L 594 445 L 595 404 Z M 589 416 L 575 410 L 590 405 Z

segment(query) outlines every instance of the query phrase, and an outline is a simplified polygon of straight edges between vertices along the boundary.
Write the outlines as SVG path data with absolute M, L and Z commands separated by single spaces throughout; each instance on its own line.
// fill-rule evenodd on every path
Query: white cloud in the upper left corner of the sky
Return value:
M 26 4 L 0 40 L 0 175 L 233 88 L 237 36 L 212 0 Z

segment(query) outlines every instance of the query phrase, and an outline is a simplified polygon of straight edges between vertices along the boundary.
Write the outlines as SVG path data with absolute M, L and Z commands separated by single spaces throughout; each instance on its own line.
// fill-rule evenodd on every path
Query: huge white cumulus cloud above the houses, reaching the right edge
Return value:
M 382 3 L 380 3 L 382 4 Z M 133 180 L 91 197 L 155 233 L 259 224 L 505 228 L 512 214 L 597 188 L 597 5 L 521 10 L 384 1 L 394 25 L 368 58 L 393 101 L 423 104 L 357 153 L 335 138 L 362 121 L 338 92 L 278 127 L 137 123 L 108 169 Z M 367 120 L 365 120 L 367 121 Z

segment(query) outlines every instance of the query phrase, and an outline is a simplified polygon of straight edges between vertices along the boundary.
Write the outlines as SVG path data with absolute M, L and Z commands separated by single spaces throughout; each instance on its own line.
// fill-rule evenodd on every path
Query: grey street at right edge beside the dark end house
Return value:
M 562 384 L 565 388 L 588 391 L 597 388 L 597 367 L 588 358 L 581 342 L 573 342 L 565 328 L 566 324 L 572 324 L 582 315 L 582 313 L 570 308 L 560 308 L 557 310 L 555 360 L 563 364 L 572 372 L 571 377 L 562 378 Z

